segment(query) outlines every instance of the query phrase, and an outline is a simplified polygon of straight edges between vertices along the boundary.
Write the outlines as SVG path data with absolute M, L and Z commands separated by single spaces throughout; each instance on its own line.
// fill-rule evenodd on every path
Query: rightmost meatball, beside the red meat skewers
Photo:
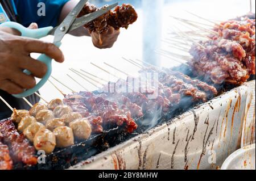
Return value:
M 69 123 L 69 127 L 72 128 L 75 137 L 79 140 L 88 139 L 92 133 L 92 127 L 85 118 Z

